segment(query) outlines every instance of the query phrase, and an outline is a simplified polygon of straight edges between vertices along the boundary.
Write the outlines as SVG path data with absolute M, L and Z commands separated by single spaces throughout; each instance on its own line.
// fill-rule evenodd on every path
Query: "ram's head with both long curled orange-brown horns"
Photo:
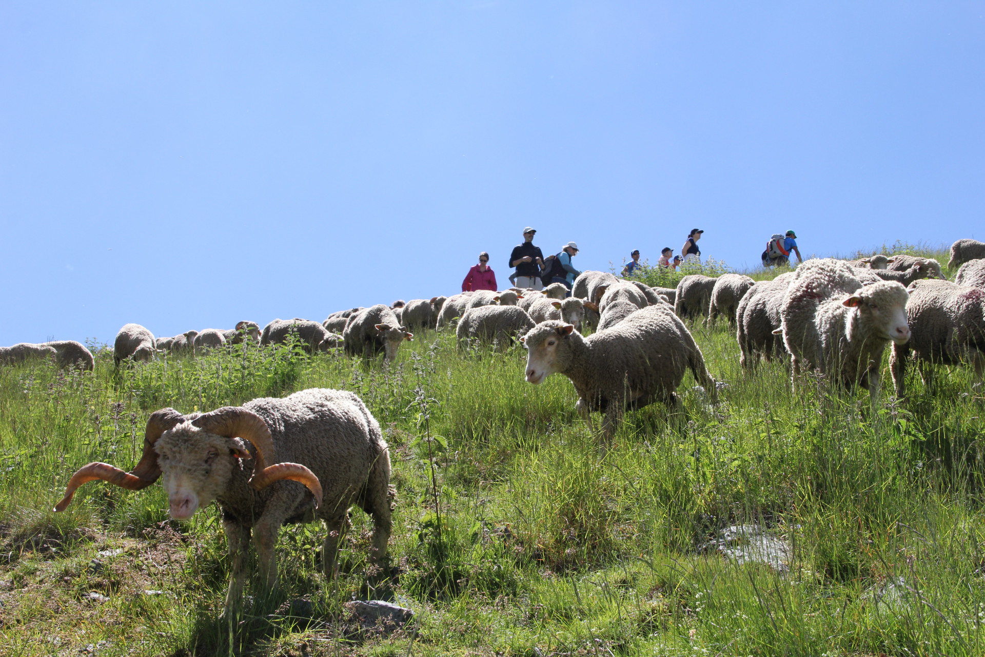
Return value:
M 253 444 L 252 456 L 246 441 Z M 318 478 L 298 463 L 275 463 L 270 429 L 260 416 L 238 407 L 225 407 L 200 416 L 182 416 L 174 409 L 155 412 L 147 423 L 144 454 L 129 473 L 108 463 L 83 466 L 68 483 L 65 496 L 55 506 L 63 511 L 83 484 L 102 480 L 130 491 L 139 491 L 164 476 L 171 517 L 184 520 L 216 499 L 229 485 L 240 459 L 253 459 L 249 486 L 261 491 L 274 482 L 290 479 L 306 486 L 321 504 Z

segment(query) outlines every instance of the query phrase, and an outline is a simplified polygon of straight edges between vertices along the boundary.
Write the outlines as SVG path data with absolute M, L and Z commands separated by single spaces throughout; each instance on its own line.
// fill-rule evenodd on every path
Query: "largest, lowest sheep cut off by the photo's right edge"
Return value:
M 908 291 L 910 341 L 894 344 L 889 356 L 896 395 L 906 393 L 910 350 L 920 364 L 925 385 L 932 385 L 935 364 L 971 364 L 975 383 L 980 385 L 985 373 L 985 291 L 950 281 L 916 281 Z

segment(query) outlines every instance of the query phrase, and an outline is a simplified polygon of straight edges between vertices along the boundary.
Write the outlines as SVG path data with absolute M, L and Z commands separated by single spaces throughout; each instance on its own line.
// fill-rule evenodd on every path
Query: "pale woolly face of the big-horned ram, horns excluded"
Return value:
M 164 431 L 154 445 L 171 517 L 187 520 L 227 489 L 240 458 L 251 458 L 240 438 L 209 433 L 190 422 Z

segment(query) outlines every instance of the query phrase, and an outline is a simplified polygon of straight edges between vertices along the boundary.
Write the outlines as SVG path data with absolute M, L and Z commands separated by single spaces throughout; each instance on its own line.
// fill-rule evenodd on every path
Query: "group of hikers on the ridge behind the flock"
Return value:
M 700 264 L 701 249 L 697 246 L 697 240 L 701 238 L 704 230 L 691 229 L 688 238 L 681 247 L 681 254 L 674 255 L 674 249 L 665 246 L 660 252 L 660 259 L 657 260 L 657 267 L 676 270 L 682 264 Z M 532 290 L 543 290 L 545 286 L 553 283 L 560 283 L 567 288 L 567 295 L 571 296 L 571 287 L 574 279 L 581 272 L 574 268 L 571 258 L 578 254 L 578 245 L 573 241 L 564 244 L 560 251 L 554 255 L 544 257 L 544 253 L 539 246 L 534 245 L 534 235 L 537 230 L 527 227 L 523 229 L 523 243 L 513 247 L 509 254 L 509 268 L 514 272 L 510 274 L 509 281 L 517 288 L 529 288 Z M 782 267 L 790 264 L 790 253 L 797 254 L 797 261 L 803 262 L 800 249 L 797 248 L 797 234 L 793 230 L 787 230 L 786 234 L 776 233 L 769 238 L 766 249 L 762 252 L 763 267 Z M 639 249 L 630 253 L 631 258 L 623 268 L 623 277 L 632 276 L 633 272 L 640 267 Z M 498 290 L 495 281 L 493 268 L 489 266 L 490 254 L 483 251 L 479 254 L 479 264 L 474 265 L 465 280 L 462 281 L 462 292 L 476 290 Z

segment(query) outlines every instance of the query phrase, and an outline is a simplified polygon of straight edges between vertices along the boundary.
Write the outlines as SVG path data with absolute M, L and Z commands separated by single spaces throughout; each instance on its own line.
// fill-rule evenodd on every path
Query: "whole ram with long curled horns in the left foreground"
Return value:
M 213 501 L 223 511 L 231 570 L 227 617 L 246 581 L 251 534 L 266 591 L 277 585 L 275 548 L 285 523 L 325 522 L 322 567 L 333 576 L 353 505 L 372 515 L 369 557 L 385 561 L 394 495 L 389 450 L 379 424 L 351 392 L 314 388 L 205 414 L 162 409 L 148 420 L 144 453 L 133 470 L 83 466 L 55 510 L 64 510 L 86 482 L 139 491 L 162 476 L 172 518 L 188 519 Z

